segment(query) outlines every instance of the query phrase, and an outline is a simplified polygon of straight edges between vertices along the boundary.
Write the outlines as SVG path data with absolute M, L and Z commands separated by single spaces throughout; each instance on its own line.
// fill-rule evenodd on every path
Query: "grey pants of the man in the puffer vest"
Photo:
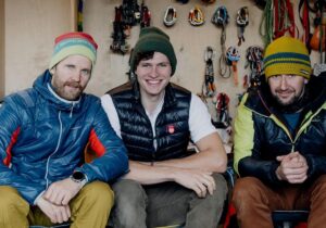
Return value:
M 204 199 L 175 182 L 141 186 L 134 180 L 118 180 L 112 186 L 115 194 L 112 225 L 114 228 L 173 225 L 216 228 L 227 195 L 227 185 L 221 174 L 213 177 L 216 190 Z

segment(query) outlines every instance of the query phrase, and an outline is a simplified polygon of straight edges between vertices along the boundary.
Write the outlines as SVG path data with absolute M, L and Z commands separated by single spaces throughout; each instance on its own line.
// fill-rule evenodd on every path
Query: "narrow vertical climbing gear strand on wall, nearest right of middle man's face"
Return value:
M 212 98 L 215 96 L 216 87 L 214 84 L 214 68 L 213 68 L 214 51 L 212 47 L 208 47 L 204 53 L 205 61 L 205 80 L 203 85 L 203 94 Z

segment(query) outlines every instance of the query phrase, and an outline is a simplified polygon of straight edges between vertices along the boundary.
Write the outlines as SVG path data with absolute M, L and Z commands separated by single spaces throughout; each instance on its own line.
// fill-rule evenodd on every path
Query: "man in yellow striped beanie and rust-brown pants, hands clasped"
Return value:
M 325 73 L 311 75 L 304 43 L 280 37 L 264 54 L 265 80 L 248 91 L 235 119 L 238 175 L 233 203 L 242 228 L 273 228 L 275 210 L 309 210 L 325 227 Z

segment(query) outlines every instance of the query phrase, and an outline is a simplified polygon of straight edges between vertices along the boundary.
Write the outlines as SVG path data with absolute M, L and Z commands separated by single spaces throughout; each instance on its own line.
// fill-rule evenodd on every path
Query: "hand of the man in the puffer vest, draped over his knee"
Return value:
M 199 169 L 175 168 L 175 182 L 191 189 L 199 198 L 205 198 L 208 192 L 213 194 L 216 189 L 215 180 L 211 172 Z

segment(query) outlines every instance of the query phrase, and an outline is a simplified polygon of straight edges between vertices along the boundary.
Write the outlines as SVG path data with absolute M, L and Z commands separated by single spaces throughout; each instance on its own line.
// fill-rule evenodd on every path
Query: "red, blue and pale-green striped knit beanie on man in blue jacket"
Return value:
M 55 38 L 54 51 L 49 69 L 72 54 L 80 54 L 88 58 L 92 66 L 97 60 L 98 45 L 93 38 L 86 33 L 67 33 Z

